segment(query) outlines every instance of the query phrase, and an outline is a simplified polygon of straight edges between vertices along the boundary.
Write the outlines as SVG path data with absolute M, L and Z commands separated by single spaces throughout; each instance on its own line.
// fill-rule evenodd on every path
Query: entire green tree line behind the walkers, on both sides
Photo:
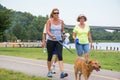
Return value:
M 7 9 L 0 4 L 0 42 L 3 41 L 36 41 L 41 40 L 44 25 L 49 18 L 46 16 L 33 16 L 28 12 Z M 72 39 L 72 30 L 66 29 Z M 93 41 L 120 41 L 120 32 L 107 32 L 103 29 L 91 29 Z

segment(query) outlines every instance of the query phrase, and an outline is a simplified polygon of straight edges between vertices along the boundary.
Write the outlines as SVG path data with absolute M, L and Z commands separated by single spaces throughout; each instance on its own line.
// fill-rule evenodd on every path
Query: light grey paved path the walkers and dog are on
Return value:
M 65 72 L 67 72 L 69 76 L 62 80 L 75 80 L 73 65 L 64 64 L 64 67 Z M 11 69 L 29 75 L 42 77 L 46 77 L 47 74 L 46 61 L 13 56 L 0 55 L 0 68 Z M 56 64 L 56 74 L 53 75 L 52 80 L 60 80 L 59 75 L 59 66 Z M 84 79 L 82 78 L 82 80 Z M 99 72 L 93 71 L 89 80 L 120 80 L 120 72 L 109 70 L 101 70 Z

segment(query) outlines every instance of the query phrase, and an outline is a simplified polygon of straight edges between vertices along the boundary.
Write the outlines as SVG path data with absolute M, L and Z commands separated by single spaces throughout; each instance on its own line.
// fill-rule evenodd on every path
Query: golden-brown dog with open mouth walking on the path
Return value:
M 100 67 L 101 66 L 99 65 L 97 60 L 89 59 L 86 62 L 83 58 L 78 57 L 74 63 L 75 78 L 76 80 L 81 80 L 81 75 L 83 74 L 84 79 L 88 80 L 92 71 L 100 71 Z

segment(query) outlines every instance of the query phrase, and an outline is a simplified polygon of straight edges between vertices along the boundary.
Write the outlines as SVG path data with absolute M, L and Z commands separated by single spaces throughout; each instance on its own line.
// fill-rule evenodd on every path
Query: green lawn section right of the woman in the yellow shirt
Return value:
M 103 69 L 120 71 L 120 52 L 92 51 L 90 57 L 98 59 Z

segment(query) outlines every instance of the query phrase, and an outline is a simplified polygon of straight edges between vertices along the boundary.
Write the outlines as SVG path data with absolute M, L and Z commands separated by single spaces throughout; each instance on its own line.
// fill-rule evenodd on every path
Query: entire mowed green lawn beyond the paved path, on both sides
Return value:
M 73 64 L 77 57 L 76 50 L 71 50 L 74 54 L 71 54 L 66 49 L 63 50 L 65 63 Z M 43 53 L 42 48 L 0 48 L 0 55 L 47 60 L 47 53 Z M 99 61 L 102 69 L 120 72 L 120 52 L 91 50 L 89 55 L 91 59 Z

